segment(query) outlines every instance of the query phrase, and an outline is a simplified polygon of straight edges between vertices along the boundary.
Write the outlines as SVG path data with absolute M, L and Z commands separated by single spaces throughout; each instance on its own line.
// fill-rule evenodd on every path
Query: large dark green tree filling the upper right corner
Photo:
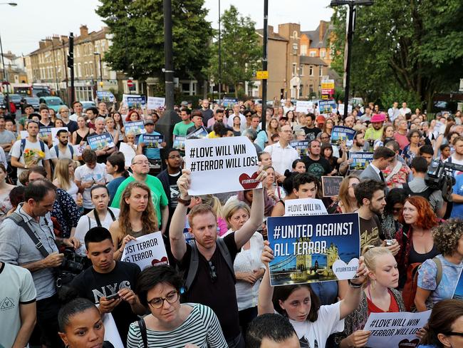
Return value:
M 370 99 L 388 99 L 390 91 L 432 106 L 437 92 L 452 91 L 463 74 L 459 0 L 377 0 L 357 8 L 351 84 Z M 345 9 L 333 14 L 335 68 L 343 66 Z

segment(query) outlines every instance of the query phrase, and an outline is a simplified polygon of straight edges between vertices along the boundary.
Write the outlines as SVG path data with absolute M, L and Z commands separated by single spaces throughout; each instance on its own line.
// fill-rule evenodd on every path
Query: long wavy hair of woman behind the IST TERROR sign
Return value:
M 148 193 L 148 204 L 145 211 L 142 213 L 142 227 L 145 233 L 155 232 L 158 227 L 158 220 L 156 216 L 156 210 L 152 204 L 152 193 L 148 185 L 145 183 L 140 183 L 140 181 L 134 181 L 127 185 L 125 188 L 122 198 L 120 200 L 120 214 L 119 214 L 119 225 L 120 231 L 123 235 L 128 235 L 132 231 L 132 225 L 130 223 L 130 205 L 125 202 L 127 198 L 130 198 L 132 195 L 132 190 L 134 188 L 141 188 Z M 153 228 L 155 230 L 153 230 Z

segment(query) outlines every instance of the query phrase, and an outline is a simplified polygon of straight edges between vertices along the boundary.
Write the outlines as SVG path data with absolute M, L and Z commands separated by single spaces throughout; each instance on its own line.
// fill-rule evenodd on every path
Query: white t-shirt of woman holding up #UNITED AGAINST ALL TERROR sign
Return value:
M 296 322 L 289 319 L 298 335 L 301 348 L 325 348 L 326 340 L 335 332 L 344 330 L 344 319 L 339 319 L 340 302 L 321 306 L 316 322 Z

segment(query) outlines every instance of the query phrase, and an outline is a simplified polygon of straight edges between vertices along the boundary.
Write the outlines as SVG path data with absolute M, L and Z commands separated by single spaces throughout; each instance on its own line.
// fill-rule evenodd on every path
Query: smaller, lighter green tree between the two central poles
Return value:
M 236 98 L 239 85 L 244 85 L 253 78 L 260 58 L 261 46 L 254 21 L 251 21 L 249 16 L 240 16 L 236 7 L 231 5 L 222 15 L 222 83 L 235 86 Z M 212 44 L 209 66 L 207 73 L 218 81 L 218 41 Z

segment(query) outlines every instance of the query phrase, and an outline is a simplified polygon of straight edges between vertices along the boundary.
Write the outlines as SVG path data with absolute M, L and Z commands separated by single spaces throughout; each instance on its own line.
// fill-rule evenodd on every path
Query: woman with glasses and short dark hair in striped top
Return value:
M 228 347 L 212 309 L 180 303 L 182 284 L 182 277 L 170 266 L 148 267 L 140 273 L 135 293 L 150 314 L 130 324 L 128 348 Z

